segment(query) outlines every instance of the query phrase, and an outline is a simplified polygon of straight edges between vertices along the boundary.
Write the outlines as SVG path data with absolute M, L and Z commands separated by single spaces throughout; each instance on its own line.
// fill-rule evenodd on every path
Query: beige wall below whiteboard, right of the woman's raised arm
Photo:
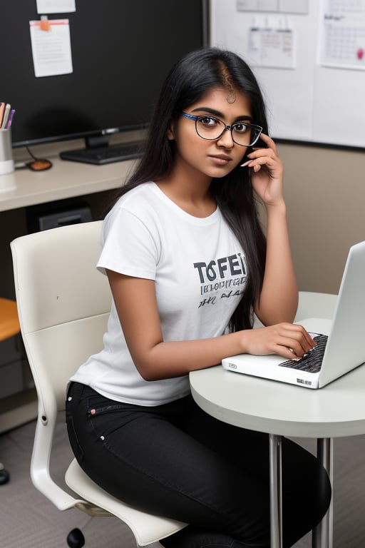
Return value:
M 365 150 L 278 149 L 299 289 L 338 293 L 349 247 L 365 240 Z

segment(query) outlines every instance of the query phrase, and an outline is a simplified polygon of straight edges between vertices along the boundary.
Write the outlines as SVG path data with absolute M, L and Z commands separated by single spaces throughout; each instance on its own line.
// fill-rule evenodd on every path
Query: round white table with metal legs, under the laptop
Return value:
M 319 325 L 315 326 L 320 328 Z M 320 332 L 320 331 L 319 331 Z M 224 370 L 217 365 L 190 373 L 192 396 L 197 405 L 229 424 L 270 435 L 272 503 L 279 499 L 279 452 L 281 436 L 315 437 L 319 459 L 331 477 L 331 438 L 365 433 L 365 366 L 320 390 L 258 379 Z M 272 519 L 277 519 L 274 509 Z M 280 527 L 279 527 L 280 529 Z M 276 532 L 277 533 L 277 532 Z M 279 535 L 272 548 L 280 546 Z M 314 547 L 331 546 L 331 509 L 312 535 Z

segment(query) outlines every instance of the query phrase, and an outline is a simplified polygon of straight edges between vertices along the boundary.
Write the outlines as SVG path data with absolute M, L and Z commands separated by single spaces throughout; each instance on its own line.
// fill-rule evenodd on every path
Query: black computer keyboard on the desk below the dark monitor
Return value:
M 123 143 L 115 146 L 101 146 L 98 148 L 82 148 L 76 151 L 63 151 L 60 157 L 63 160 L 73 162 L 95 163 L 103 165 L 104 163 L 121 162 L 133 160 L 142 156 L 143 143 Z

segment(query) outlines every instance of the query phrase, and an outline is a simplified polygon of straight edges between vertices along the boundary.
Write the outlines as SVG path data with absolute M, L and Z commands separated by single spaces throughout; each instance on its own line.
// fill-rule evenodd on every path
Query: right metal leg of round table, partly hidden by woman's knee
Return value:
M 317 440 L 317 457 L 329 475 L 333 485 L 333 440 L 329 437 Z M 327 514 L 312 532 L 312 548 L 333 547 L 333 496 Z

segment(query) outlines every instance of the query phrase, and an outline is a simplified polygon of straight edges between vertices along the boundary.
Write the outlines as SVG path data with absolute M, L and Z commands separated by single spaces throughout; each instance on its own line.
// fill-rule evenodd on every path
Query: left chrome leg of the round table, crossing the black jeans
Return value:
M 269 434 L 270 547 L 282 548 L 282 436 Z

